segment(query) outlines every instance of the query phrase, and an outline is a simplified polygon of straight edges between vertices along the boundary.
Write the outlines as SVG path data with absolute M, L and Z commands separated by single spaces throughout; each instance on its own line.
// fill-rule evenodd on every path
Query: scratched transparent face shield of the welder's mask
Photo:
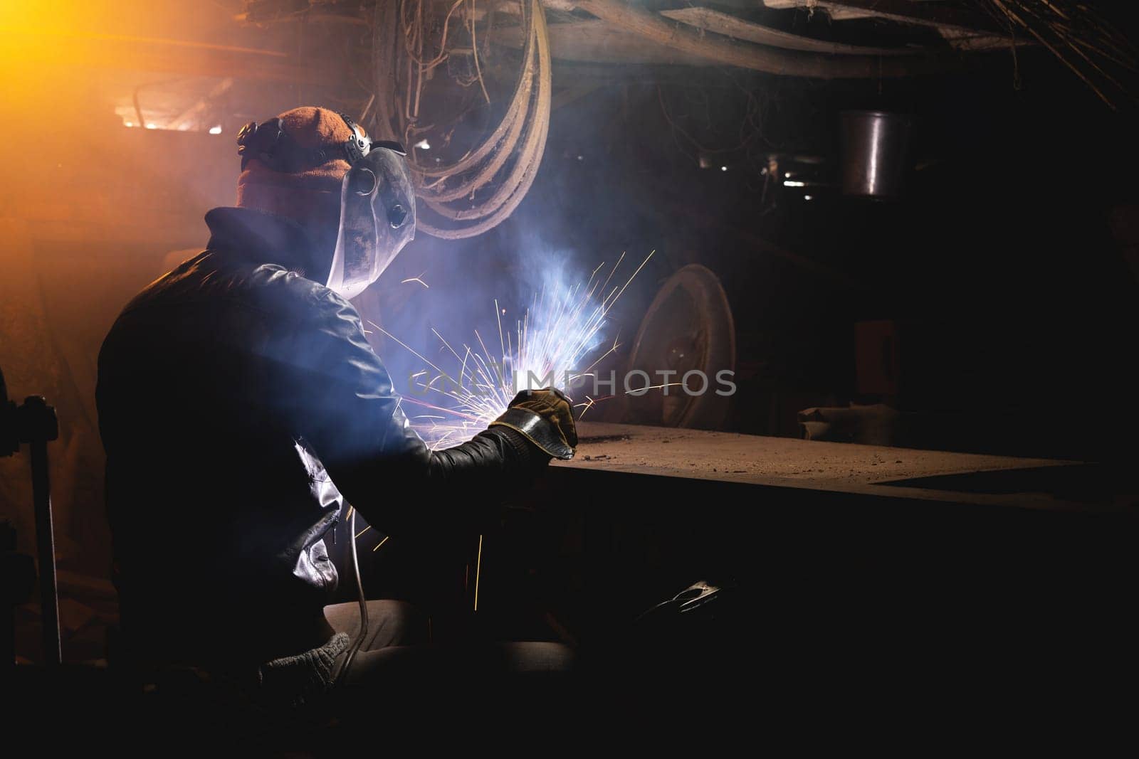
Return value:
M 416 196 L 400 152 L 374 147 L 341 182 L 341 226 L 328 288 L 353 298 L 416 236 Z

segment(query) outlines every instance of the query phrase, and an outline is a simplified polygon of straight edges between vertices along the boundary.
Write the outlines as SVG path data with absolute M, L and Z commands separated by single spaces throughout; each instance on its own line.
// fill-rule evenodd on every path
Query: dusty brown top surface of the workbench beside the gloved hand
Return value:
M 590 422 L 579 436 L 576 457 L 555 467 L 910 501 L 1077 511 L 1132 504 L 1088 462 Z

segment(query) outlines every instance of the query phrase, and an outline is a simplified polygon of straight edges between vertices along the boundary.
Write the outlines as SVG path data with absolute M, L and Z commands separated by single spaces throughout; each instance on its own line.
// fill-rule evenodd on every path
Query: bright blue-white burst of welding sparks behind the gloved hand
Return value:
M 614 283 L 614 277 L 624 261 L 622 254 L 607 274 L 599 274 L 604 263 L 595 269 L 584 286 L 543 287 L 513 327 L 503 325 L 506 308 L 494 300 L 499 338 L 497 352 L 487 347 L 478 330 L 475 330 L 470 345 L 462 344 L 456 349 L 432 329 L 444 353 L 453 357 L 454 371 L 444 371 L 369 320 L 374 328 L 409 350 L 427 368 L 409 378 L 411 387 L 403 401 L 436 413 L 411 416 L 412 427 L 432 448 L 448 448 L 486 429 L 506 411 L 518 390 L 549 385 L 568 390 L 576 380 L 591 376 L 593 368 L 618 347 L 616 340 L 612 344 L 603 341 L 609 310 L 654 253 L 645 257 L 624 283 Z M 587 362 L 588 365 L 582 369 Z M 575 407 L 584 413 L 598 399 L 587 396 L 587 402 Z

